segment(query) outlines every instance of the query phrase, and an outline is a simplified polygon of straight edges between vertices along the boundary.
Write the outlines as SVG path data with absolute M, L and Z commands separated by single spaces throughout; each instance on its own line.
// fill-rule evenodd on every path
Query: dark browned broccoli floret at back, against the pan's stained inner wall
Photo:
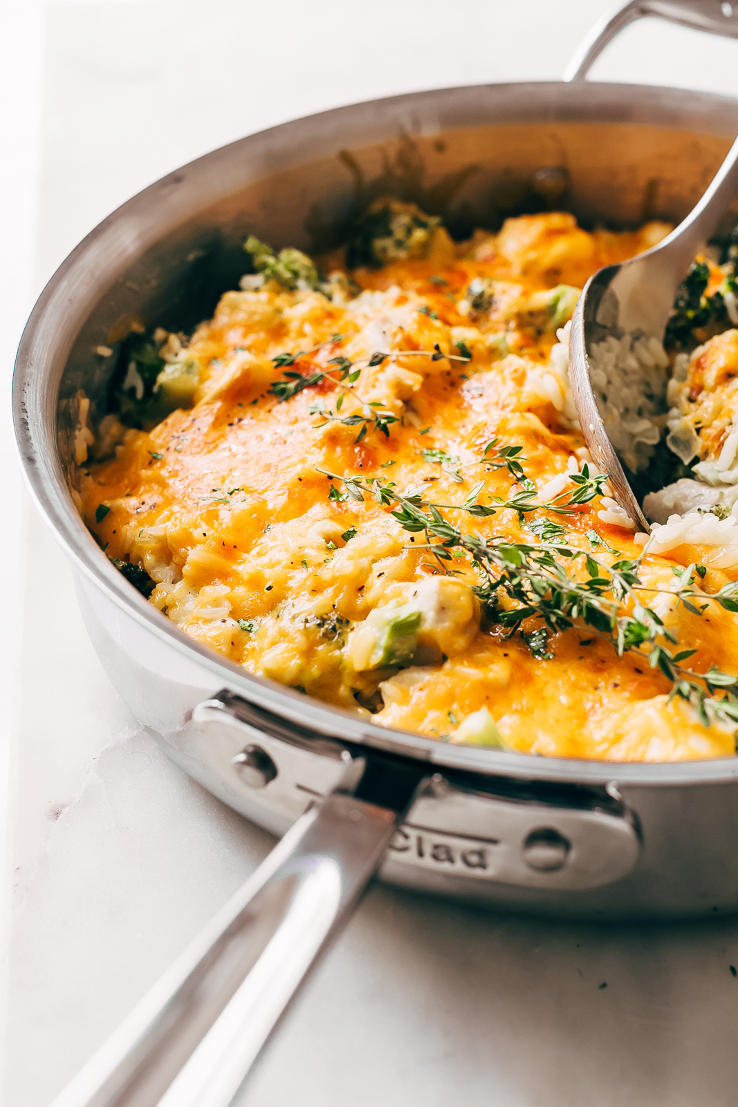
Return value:
M 346 265 L 376 268 L 391 261 L 423 258 L 440 217 L 425 215 L 417 204 L 382 197 L 356 221 L 346 247 Z

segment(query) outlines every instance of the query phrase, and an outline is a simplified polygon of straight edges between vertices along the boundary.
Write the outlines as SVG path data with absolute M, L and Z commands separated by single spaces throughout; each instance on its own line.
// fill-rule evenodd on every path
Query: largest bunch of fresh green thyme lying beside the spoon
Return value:
M 500 456 L 500 451 L 497 452 Z M 551 504 L 534 501 L 534 486 L 523 487 L 507 500 L 496 498 L 493 506 L 482 505 L 479 494 L 484 486 L 477 485 L 462 504 L 438 504 L 423 497 L 427 485 L 420 485 L 405 493 L 397 490 L 395 482 L 382 484 L 368 482 L 358 476 L 340 476 L 326 469 L 319 469 L 331 480 L 343 484 L 345 494 L 334 490 L 334 498 L 357 501 L 364 495 L 372 495 L 378 504 L 389 507 L 391 515 L 404 530 L 423 532 L 439 563 L 449 561 L 451 549 L 469 554 L 472 565 L 484 570 L 486 581 L 475 588 L 491 618 L 508 630 L 509 634 L 520 631 L 531 653 L 538 658 L 551 658 L 547 650 L 548 633 L 560 633 L 575 627 L 591 628 L 597 638 L 610 642 L 619 656 L 634 652 L 658 669 L 671 681 L 669 699 L 679 696 L 696 711 L 705 726 L 713 718 L 726 723 L 738 723 L 738 676 L 723 673 L 715 666 L 707 672 L 696 672 L 683 664 L 695 650 L 679 650 L 673 653 L 671 645 L 678 645 L 674 634 L 653 607 L 645 606 L 640 592 L 667 594 L 687 611 L 701 615 L 709 607 L 696 602 L 705 600 L 704 592 L 689 586 L 695 566 L 688 566 L 679 576 L 679 587 L 674 590 L 648 588 L 641 582 L 638 569 L 643 554 L 635 559 L 622 558 L 607 563 L 594 554 L 554 541 L 543 541 L 538 546 L 526 542 L 510 542 L 505 537 L 493 537 L 489 541 L 481 535 L 464 532 L 460 527 L 441 515 L 441 509 L 466 513 L 472 517 L 491 516 L 503 508 L 513 508 L 520 518 L 539 509 L 559 515 L 572 514 L 580 505 L 588 503 L 601 490 L 604 477 L 590 477 L 588 467 L 581 474 L 572 474 L 576 485 L 573 493 L 561 493 Z M 532 482 L 523 477 L 523 485 Z M 555 526 L 555 524 L 554 524 Z M 559 537 L 559 535 L 557 535 Z M 563 536 L 561 536 L 563 537 Z M 416 547 L 417 548 L 417 547 Z M 644 551 L 645 552 L 645 551 Z M 582 572 L 573 576 L 568 566 L 583 563 Z M 506 593 L 513 607 L 501 608 L 497 597 Z M 738 581 L 730 581 L 708 597 L 727 611 L 738 611 Z M 627 610 L 628 603 L 631 610 Z M 538 620 L 540 625 L 531 632 L 522 631 L 523 623 Z M 717 694 L 720 694 L 719 697 Z

